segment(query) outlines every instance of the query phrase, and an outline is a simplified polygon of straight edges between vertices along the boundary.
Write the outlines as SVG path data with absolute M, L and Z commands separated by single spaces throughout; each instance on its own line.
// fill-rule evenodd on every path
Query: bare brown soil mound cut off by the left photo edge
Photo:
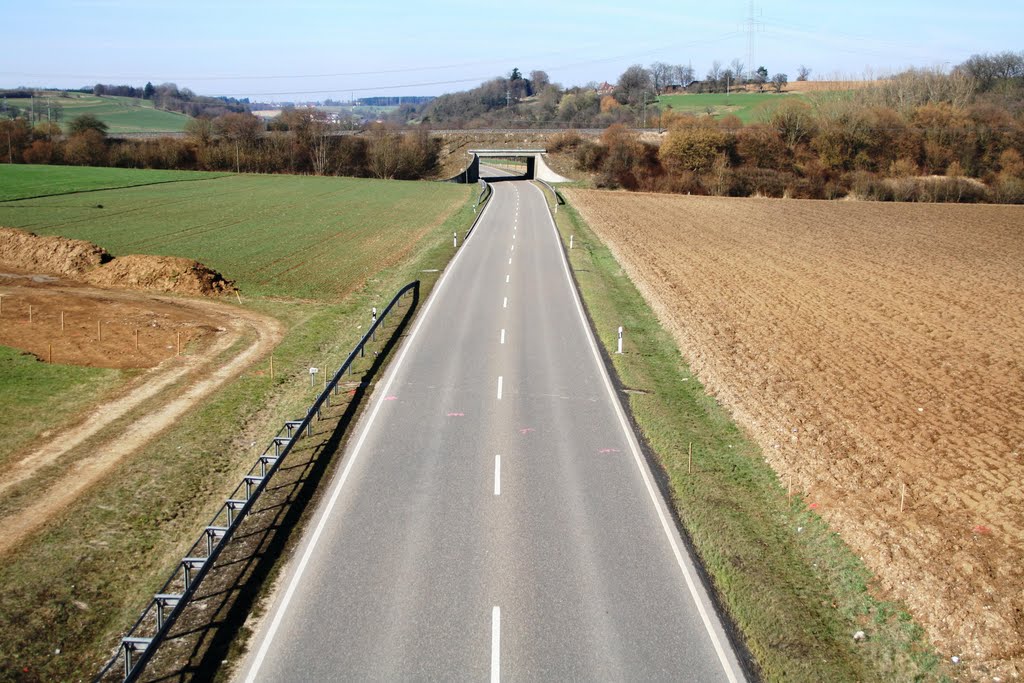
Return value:
M 113 258 L 102 247 L 84 240 L 41 238 L 13 227 L 0 227 L 0 262 L 26 270 L 80 275 Z

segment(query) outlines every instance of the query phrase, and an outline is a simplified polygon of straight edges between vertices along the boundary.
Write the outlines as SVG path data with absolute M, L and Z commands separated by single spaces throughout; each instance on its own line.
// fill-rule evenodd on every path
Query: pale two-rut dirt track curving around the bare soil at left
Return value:
M 103 294 L 118 298 L 153 298 L 148 293 L 112 293 L 104 290 Z M 284 334 L 276 319 L 238 306 L 206 300 L 158 298 L 216 315 L 222 319 L 223 332 L 195 355 L 171 358 L 140 375 L 120 395 L 96 405 L 80 422 L 56 431 L 45 443 L 11 463 L 3 481 L 0 481 L 0 495 L 31 479 L 42 468 L 59 463 L 61 458 L 86 440 L 101 435 L 101 440 L 96 443 L 95 456 L 72 464 L 63 475 L 41 488 L 28 507 L 0 517 L 4 528 L 4 533 L 0 535 L 0 554 L 40 528 L 118 463 L 150 443 L 200 400 L 269 352 Z M 217 357 L 247 333 L 255 334 L 255 341 L 227 362 L 215 366 Z M 146 403 L 152 403 L 154 410 L 127 429 L 103 433 L 129 412 Z

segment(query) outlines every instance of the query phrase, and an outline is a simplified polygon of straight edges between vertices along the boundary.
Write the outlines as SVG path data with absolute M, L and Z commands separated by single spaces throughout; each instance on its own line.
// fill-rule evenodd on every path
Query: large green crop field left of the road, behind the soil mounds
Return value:
M 45 168 L 8 166 L 0 180 L 37 191 Z M 109 170 L 56 167 L 53 174 L 63 186 L 87 186 Z M 338 300 L 401 261 L 469 195 L 439 183 L 119 172 L 122 182 L 161 184 L 3 202 L 0 225 L 88 240 L 115 256 L 194 258 L 244 295 Z M 182 180 L 167 182 L 174 178 Z

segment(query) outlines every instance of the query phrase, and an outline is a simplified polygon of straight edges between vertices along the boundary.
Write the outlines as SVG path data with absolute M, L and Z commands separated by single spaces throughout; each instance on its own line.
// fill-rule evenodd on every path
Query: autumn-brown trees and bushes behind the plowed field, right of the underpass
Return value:
M 911 70 L 856 96 L 786 100 L 751 125 L 670 111 L 659 144 L 615 125 L 597 141 L 562 133 L 548 148 L 571 153 L 603 187 L 1020 204 L 1022 94 L 1024 73 L 982 91 L 966 70 Z

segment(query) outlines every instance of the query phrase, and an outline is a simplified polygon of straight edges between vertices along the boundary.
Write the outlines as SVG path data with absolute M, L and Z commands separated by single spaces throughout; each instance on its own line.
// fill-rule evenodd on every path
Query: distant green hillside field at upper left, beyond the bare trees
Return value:
M 28 109 L 28 99 L 8 100 Z M 59 104 L 65 128 L 75 117 L 91 114 L 108 125 L 108 133 L 179 133 L 185 129 L 188 118 L 178 112 L 158 110 L 148 99 L 93 95 L 85 92 L 47 91 L 35 98 L 37 112 L 45 114 L 47 101 Z

